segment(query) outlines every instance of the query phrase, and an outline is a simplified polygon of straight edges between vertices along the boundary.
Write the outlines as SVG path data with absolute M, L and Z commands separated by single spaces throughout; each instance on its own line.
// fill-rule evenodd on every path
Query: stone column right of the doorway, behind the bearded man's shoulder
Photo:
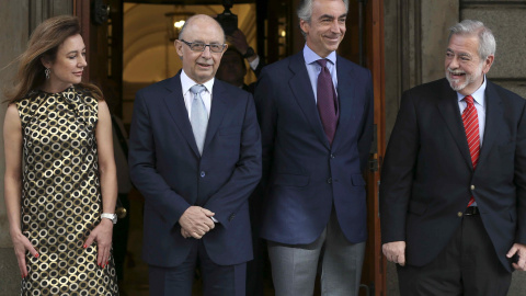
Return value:
M 447 29 L 458 22 L 458 1 L 384 1 L 387 139 L 395 125 L 401 93 L 444 77 Z

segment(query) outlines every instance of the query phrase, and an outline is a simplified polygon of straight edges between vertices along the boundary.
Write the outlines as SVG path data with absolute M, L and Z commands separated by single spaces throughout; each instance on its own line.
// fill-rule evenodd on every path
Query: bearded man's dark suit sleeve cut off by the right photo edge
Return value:
M 515 242 L 526 244 L 526 104 L 517 127 L 515 148 L 515 186 L 517 198 L 517 232 Z

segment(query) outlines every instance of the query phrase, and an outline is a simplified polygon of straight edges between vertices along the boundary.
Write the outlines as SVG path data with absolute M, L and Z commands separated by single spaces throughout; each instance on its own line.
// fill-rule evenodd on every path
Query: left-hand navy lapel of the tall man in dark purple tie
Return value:
M 293 56 L 289 68 L 294 73 L 293 78 L 288 82 L 294 98 L 298 102 L 298 105 L 301 107 L 305 117 L 309 122 L 312 130 L 315 130 L 320 141 L 323 143 L 328 149 L 330 149 L 329 139 L 327 138 L 325 132 L 323 132 L 318 107 L 316 106 L 315 93 L 312 92 L 312 88 L 310 86 L 310 79 L 307 72 L 307 67 L 305 66 L 302 50 Z

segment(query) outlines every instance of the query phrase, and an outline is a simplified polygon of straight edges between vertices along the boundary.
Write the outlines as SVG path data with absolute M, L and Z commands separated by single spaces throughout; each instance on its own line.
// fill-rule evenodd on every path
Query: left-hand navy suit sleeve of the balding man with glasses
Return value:
M 157 210 L 172 225 L 190 207 L 190 204 L 167 184 L 156 169 L 156 146 L 150 114 L 141 91 L 137 92 L 129 135 L 128 166 L 134 185 Z

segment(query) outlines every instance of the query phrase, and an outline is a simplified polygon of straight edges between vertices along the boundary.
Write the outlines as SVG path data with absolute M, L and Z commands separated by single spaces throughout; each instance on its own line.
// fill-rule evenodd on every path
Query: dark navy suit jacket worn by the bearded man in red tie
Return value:
M 405 241 L 408 264 L 435 259 L 460 226 L 470 196 L 505 269 L 526 243 L 526 100 L 491 81 L 473 171 L 457 93 L 446 79 L 403 93 L 381 171 L 381 239 Z

